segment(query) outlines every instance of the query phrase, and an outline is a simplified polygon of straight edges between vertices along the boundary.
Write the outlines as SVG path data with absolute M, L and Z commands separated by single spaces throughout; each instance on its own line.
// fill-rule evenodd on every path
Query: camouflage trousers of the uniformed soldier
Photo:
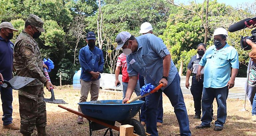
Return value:
M 22 134 L 31 134 L 36 127 L 46 126 L 46 103 L 44 86 L 26 86 L 19 90 Z

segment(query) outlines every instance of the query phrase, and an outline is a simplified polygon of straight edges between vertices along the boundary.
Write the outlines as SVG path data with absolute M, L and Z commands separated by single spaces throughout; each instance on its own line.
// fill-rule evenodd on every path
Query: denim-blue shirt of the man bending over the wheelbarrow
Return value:
M 163 77 L 163 57 L 170 54 L 163 40 L 154 34 L 144 34 L 136 37 L 138 50 L 126 56 L 129 77 L 142 75 L 145 84 L 158 85 Z M 168 85 L 172 83 L 177 68 L 171 59 L 168 75 Z M 162 90 L 165 88 L 162 88 Z

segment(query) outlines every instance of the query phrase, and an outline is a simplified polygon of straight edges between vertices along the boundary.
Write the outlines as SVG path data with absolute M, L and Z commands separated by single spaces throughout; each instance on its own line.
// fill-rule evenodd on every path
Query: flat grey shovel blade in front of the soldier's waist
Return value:
M 4 80 L 3 84 L 0 86 L 3 88 L 11 87 L 14 90 L 19 90 L 34 80 L 35 78 L 15 76 L 9 81 Z

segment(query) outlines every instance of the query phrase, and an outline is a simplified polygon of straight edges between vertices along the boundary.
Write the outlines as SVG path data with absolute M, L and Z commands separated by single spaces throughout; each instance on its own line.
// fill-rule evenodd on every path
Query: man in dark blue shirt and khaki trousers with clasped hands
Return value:
M 97 101 L 99 96 L 100 73 L 103 73 L 103 52 L 95 46 L 96 35 L 89 32 L 86 35 L 87 45 L 79 51 L 79 62 L 82 68 L 80 83 L 81 97 L 79 102 L 86 102 L 90 91 L 91 101 Z M 81 109 L 78 105 L 78 111 Z M 83 122 L 83 117 L 78 116 L 77 123 Z

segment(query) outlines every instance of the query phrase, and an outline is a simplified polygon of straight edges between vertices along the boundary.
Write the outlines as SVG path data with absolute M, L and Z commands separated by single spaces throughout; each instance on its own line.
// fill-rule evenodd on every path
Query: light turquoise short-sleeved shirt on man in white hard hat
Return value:
M 220 50 L 213 45 L 206 50 L 199 65 L 204 66 L 203 87 L 222 88 L 230 80 L 231 67 L 239 69 L 238 54 L 228 44 Z

